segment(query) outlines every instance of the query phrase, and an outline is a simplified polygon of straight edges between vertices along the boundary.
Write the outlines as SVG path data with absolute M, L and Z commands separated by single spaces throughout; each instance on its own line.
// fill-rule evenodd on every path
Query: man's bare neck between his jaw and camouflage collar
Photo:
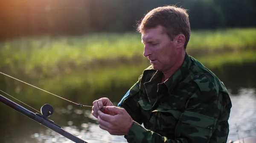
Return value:
M 180 58 L 172 66 L 172 68 L 170 68 L 169 70 L 163 71 L 164 81 L 166 81 L 166 79 L 169 79 L 169 77 L 171 77 L 180 68 L 180 66 L 182 65 L 184 59 L 185 59 L 185 53 L 182 54 L 182 56 L 180 56 Z

